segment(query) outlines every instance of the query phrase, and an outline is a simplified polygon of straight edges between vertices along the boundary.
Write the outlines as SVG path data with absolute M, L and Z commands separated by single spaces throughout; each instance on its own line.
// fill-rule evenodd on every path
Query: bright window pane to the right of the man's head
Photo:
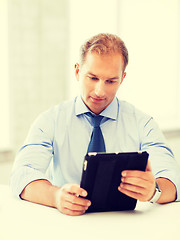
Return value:
M 154 116 L 163 130 L 180 128 L 179 0 L 121 0 L 119 30 L 130 54 L 119 97 Z

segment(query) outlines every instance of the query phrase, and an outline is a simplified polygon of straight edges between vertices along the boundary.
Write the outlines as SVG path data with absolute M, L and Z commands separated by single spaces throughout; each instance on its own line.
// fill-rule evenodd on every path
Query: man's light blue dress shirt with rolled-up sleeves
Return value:
M 15 196 L 37 179 L 56 186 L 80 183 L 93 128 L 86 112 L 89 109 L 76 97 L 38 117 L 16 156 L 10 181 Z M 153 118 L 117 98 L 100 115 L 106 152 L 147 151 L 154 176 L 171 180 L 180 200 L 179 167 Z

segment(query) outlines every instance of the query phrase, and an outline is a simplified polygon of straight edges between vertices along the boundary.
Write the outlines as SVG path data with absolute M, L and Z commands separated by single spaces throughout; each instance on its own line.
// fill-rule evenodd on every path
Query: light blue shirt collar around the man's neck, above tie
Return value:
M 117 101 L 117 98 L 115 97 L 113 99 L 113 101 L 111 102 L 111 104 L 109 104 L 109 106 L 107 106 L 107 108 L 105 108 L 100 113 L 100 115 L 104 116 L 104 117 L 107 117 L 107 118 L 111 118 L 113 120 L 116 120 L 117 115 L 118 115 L 118 110 L 119 110 L 118 101 Z M 91 111 L 86 106 L 86 104 L 83 102 L 81 96 L 78 96 L 76 98 L 76 102 L 75 102 L 75 114 L 76 114 L 76 116 L 87 113 L 87 112 L 91 112 Z

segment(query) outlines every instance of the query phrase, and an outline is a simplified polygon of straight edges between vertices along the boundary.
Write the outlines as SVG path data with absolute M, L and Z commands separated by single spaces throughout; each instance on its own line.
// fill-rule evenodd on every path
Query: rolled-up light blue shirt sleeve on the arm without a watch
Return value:
M 32 181 L 50 179 L 46 175 L 53 157 L 53 124 L 49 115 L 42 114 L 31 127 L 25 144 L 18 151 L 10 186 L 19 197 L 23 189 Z

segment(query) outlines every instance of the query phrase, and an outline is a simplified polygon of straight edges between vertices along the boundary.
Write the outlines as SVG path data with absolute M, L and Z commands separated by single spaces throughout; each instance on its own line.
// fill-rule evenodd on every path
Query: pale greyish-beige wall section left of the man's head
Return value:
M 68 1 L 9 0 L 11 144 L 37 115 L 67 95 Z

